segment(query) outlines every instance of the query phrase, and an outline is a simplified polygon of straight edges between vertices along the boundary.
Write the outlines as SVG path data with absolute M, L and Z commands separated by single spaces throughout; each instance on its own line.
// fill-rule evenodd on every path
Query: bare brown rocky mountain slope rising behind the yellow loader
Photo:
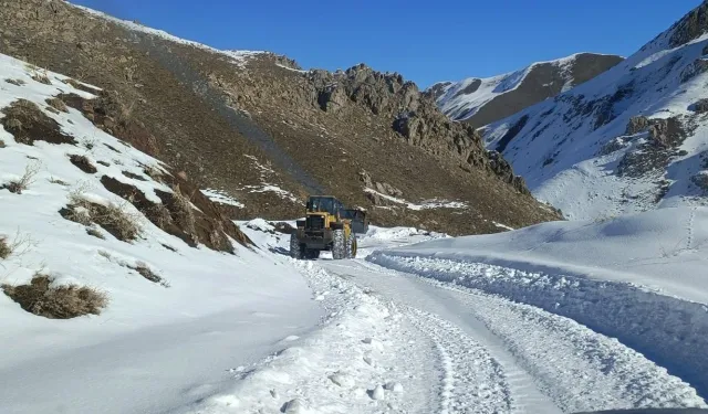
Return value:
M 558 217 L 473 128 L 397 74 L 302 71 L 61 1 L 10 2 L 0 21 L 1 52 L 113 93 L 148 130 L 144 148 L 238 201 L 225 206 L 235 219 L 298 216 L 311 192 L 365 206 L 375 223 L 454 233 Z

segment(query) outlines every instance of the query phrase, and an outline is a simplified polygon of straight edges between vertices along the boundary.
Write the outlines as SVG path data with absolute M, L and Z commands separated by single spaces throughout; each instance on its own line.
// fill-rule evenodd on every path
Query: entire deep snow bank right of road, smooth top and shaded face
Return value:
M 375 252 L 369 261 L 572 318 L 708 394 L 708 209 L 559 222 Z

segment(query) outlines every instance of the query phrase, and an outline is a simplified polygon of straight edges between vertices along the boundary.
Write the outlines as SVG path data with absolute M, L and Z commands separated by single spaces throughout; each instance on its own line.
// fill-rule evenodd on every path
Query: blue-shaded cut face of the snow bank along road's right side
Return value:
M 562 274 L 521 272 L 464 261 L 375 252 L 369 262 L 426 278 L 459 284 L 541 308 L 617 338 L 671 375 L 708 395 L 708 307 L 645 291 L 629 284 Z

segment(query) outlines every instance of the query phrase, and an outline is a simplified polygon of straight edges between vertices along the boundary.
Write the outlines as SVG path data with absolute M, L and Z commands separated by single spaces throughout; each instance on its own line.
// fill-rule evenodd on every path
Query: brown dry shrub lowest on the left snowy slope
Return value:
M 2 290 L 30 314 L 49 319 L 71 319 L 100 315 L 108 304 L 105 293 L 92 287 L 67 285 L 52 287 L 46 275 L 35 274 L 29 285 L 2 285 Z

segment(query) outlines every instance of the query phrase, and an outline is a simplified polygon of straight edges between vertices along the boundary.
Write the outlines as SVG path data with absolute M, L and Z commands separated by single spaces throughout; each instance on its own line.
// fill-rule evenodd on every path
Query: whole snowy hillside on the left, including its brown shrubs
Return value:
M 322 317 L 194 183 L 69 105 L 105 114 L 102 93 L 0 55 L 2 413 L 190 405 Z

